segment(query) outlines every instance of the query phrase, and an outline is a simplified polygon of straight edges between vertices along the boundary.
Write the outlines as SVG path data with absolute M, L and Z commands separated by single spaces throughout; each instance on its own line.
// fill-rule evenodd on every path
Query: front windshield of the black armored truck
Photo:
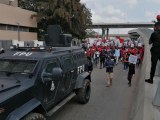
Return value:
M 36 60 L 0 60 L 0 72 L 33 73 Z

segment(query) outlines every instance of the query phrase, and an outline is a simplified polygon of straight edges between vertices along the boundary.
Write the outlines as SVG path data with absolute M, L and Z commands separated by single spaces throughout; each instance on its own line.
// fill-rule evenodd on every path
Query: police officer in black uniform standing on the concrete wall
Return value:
M 149 44 L 152 44 L 151 48 L 151 71 L 150 78 L 145 82 L 153 84 L 153 78 L 157 66 L 158 59 L 160 60 L 160 15 L 157 15 L 157 22 L 154 25 L 154 32 L 151 34 Z

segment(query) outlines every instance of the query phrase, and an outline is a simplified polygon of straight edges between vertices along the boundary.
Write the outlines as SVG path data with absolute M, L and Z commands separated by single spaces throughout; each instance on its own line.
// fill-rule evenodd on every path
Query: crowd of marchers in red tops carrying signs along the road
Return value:
M 128 69 L 128 84 L 131 86 L 131 79 L 135 74 L 135 67 L 139 66 L 143 61 L 144 56 L 144 45 L 142 43 L 136 44 L 122 44 L 121 47 L 114 44 L 96 45 L 93 44 L 85 51 L 86 56 L 89 61 L 93 63 L 94 66 L 100 69 L 106 68 L 107 73 L 107 87 L 112 85 L 113 80 L 113 68 L 119 62 L 123 64 L 123 69 Z M 130 55 L 136 56 L 136 63 L 129 61 Z M 93 67 L 90 67 L 93 68 Z M 92 71 L 92 69 L 90 69 Z

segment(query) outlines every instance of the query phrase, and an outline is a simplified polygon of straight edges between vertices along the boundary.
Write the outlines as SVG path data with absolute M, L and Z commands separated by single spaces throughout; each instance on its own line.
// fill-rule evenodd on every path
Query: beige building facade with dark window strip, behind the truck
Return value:
M 0 0 L 0 40 L 37 40 L 36 14 L 19 8 L 17 0 Z

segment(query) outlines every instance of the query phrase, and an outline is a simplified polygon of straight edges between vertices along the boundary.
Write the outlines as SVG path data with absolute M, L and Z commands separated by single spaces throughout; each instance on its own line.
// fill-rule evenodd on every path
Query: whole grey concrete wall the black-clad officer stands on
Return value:
M 145 44 L 145 54 L 142 67 L 139 72 L 138 83 L 136 84 L 134 103 L 132 106 L 130 120 L 159 120 L 160 108 L 154 106 L 153 102 L 157 93 L 160 77 L 154 77 L 154 84 L 145 83 L 145 79 L 150 77 L 151 53 L 148 41 L 153 31 L 146 29 L 137 29 L 136 32 L 142 37 Z M 160 74 L 160 65 L 158 63 L 156 74 Z M 158 98 L 156 98 L 157 100 Z

